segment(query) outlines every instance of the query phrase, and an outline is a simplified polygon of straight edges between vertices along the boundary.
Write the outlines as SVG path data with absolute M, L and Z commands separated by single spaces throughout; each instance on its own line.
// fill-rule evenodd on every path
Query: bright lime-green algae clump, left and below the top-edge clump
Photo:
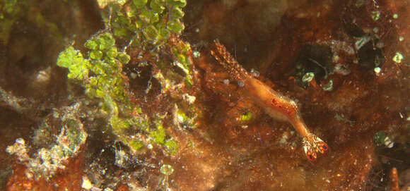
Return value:
M 129 62 L 129 56 L 118 52 L 115 39 L 108 32 L 92 37 L 85 47 L 90 50 L 88 58 L 74 47 L 68 47 L 59 54 L 57 65 L 69 69 L 69 79 L 81 80 L 88 97 L 102 100 L 102 110 L 119 133 L 134 123 L 132 119 L 118 116 L 119 111 L 129 116 L 133 109 L 121 77 L 122 65 Z

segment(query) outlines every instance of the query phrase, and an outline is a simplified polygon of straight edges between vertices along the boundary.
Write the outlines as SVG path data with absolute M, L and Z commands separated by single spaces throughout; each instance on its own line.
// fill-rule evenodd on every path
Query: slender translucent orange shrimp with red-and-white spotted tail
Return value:
M 245 88 L 245 92 L 258 106 L 262 107 L 272 118 L 287 121 L 293 125 L 293 128 L 302 136 L 303 150 L 309 161 L 315 161 L 318 153 L 324 154 L 329 150 L 326 142 L 310 133 L 310 130 L 307 129 L 295 101 L 272 90 L 271 87 L 254 78 L 240 66 L 238 61 L 230 56 L 218 40 L 214 41 L 213 47 L 216 51 L 211 50 L 212 56 L 228 70 L 233 80 L 237 80 L 238 84 Z

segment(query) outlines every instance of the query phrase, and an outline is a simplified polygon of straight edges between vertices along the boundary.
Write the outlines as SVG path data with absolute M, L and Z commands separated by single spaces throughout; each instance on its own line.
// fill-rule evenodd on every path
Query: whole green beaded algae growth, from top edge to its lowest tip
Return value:
M 112 132 L 134 151 L 152 143 L 163 147 L 168 154 L 177 153 L 177 141 L 167 136 L 163 117 L 149 118 L 150 113 L 141 111 L 130 98 L 123 67 L 131 60 L 127 49 L 139 49 L 158 59 L 158 67 L 164 71 L 159 70 L 153 78 L 158 79 L 163 92 L 170 93 L 167 88 L 172 86 L 172 76 L 175 76 L 166 71 L 168 66 L 181 68 L 186 75 L 185 85 L 192 86 L 192 63 L 188 58 L 191 47 L 185 42 L 170 40 L 185 28 L 181 18 L 186 4 L 185 0 L 110 2 L 102 10 L 107 29 L 86 41 L 84 47 L 88 51 L 83 53 L 70 46 L 57 59 L 58 66 L 69 70 L 69 79 L 80 82 L 90 99 L 100 100 L 100 109 L 107 116 Z M 126 45 L 119 48 L 118 44 Z M 161 61 L 163 49 L 170 50 L 175 61 Z M 183 111 L 179 113 L 185 115 Z M 185 121 L 188 120 L 185 116 Z M 139 130 L 141 135 L 130 135 L 129 128 Z M 135 138 L 141 136 L 148 138 Z

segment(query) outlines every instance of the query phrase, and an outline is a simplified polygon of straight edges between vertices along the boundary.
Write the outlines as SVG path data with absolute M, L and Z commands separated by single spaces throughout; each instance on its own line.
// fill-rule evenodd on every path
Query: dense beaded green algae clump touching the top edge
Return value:
M 105 20 L 116 37 L 132 36 L 136 44 L 160 45 L 185 29 L 181 19 L 186 4 L 185 0 L 133 0 L 124 6 L 110 6 Z

